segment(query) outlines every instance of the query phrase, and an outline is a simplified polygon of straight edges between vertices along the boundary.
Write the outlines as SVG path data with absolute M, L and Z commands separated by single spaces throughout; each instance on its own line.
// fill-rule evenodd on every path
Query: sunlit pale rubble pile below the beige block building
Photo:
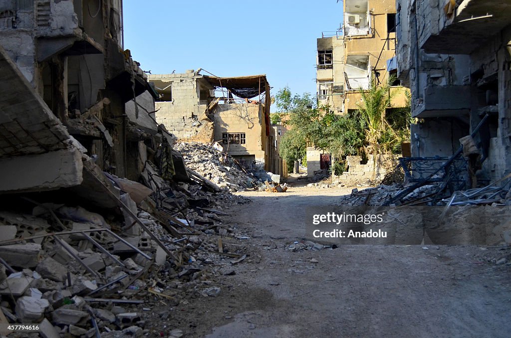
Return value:
M 219 148 L 221 146 L 218 145 Z M 178 143 L 174 147 L 186 165 L 206 179 L 229 191 L 243 191 L 260 185 L 258 179 L 242 169 L 241 165 L 223 151 L 202 143 Z

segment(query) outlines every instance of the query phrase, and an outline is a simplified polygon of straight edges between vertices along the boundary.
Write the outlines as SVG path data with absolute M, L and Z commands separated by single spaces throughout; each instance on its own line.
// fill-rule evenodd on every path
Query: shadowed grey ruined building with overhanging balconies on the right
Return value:
M 511 171 L 511 3 L 398 0 L 397 6 L 399 78 L 419 118 L 411 126 L 412 159 L 458 158 L 460 138 L 471 135 L 474 176 L 502 178 Z

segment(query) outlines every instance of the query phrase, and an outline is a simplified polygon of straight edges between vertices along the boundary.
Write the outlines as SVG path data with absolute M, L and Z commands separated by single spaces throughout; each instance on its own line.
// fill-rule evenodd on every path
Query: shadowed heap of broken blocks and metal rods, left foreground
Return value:
M 158 183 L 165 199 L 153 194 L 135 203 L 135 195 L 121 196 L 146 229 L 124 211 L 99 214 L 64 204 L 0 212 L 0 309 L 7 320 L 38 324 L 52 338 L 181 336 L 151 321 L 151 311 L 162 302 L 221 293 L 214 277 L 247 251 L 235 244 L 245 237 L 223 224 L 228 214 L 221 209 L 248 200 L 193 182 Z

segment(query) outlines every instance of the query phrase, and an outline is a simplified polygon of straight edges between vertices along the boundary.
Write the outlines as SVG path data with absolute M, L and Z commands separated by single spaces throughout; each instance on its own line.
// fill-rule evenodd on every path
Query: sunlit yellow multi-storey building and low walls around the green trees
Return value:
M 369 89 L 397 75 L 396 66 L 396 2 L 394 0 L 345 0 L 343 22 L 335 32 L 322 32 L 316 40 L 316 90 L 319 106 L 328 106 L 335 114 L 359 109 L 361 90 Z M 396 79 L 391 83 L 394 95 L 391 109 L 407 106 L 405 88 Z M 405 150 L 406 151 L 406 150 Z M 371 161 L 385 162 L 387 157 Z M 334 159 L 335 161 L 335 159 Z M 332 162 L 328 151 L 307 148 L 307 174 L 328 169 Z M 352 169 L 364 166 L 360 156 L 350 156 Z M 351 170 L 350 170 L 351 171 Z M 373 169 L 343 173 L 343 181 L 374 180 L 382 176 Z

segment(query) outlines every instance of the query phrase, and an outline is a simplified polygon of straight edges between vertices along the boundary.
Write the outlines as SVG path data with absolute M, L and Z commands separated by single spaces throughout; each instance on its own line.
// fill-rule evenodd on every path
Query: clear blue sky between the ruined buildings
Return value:
M 315 94 L 316 38 L 341 21 L 336 0 L 129 0 L 124 45 L 152 74 L 266 74 L 272 94 Z

